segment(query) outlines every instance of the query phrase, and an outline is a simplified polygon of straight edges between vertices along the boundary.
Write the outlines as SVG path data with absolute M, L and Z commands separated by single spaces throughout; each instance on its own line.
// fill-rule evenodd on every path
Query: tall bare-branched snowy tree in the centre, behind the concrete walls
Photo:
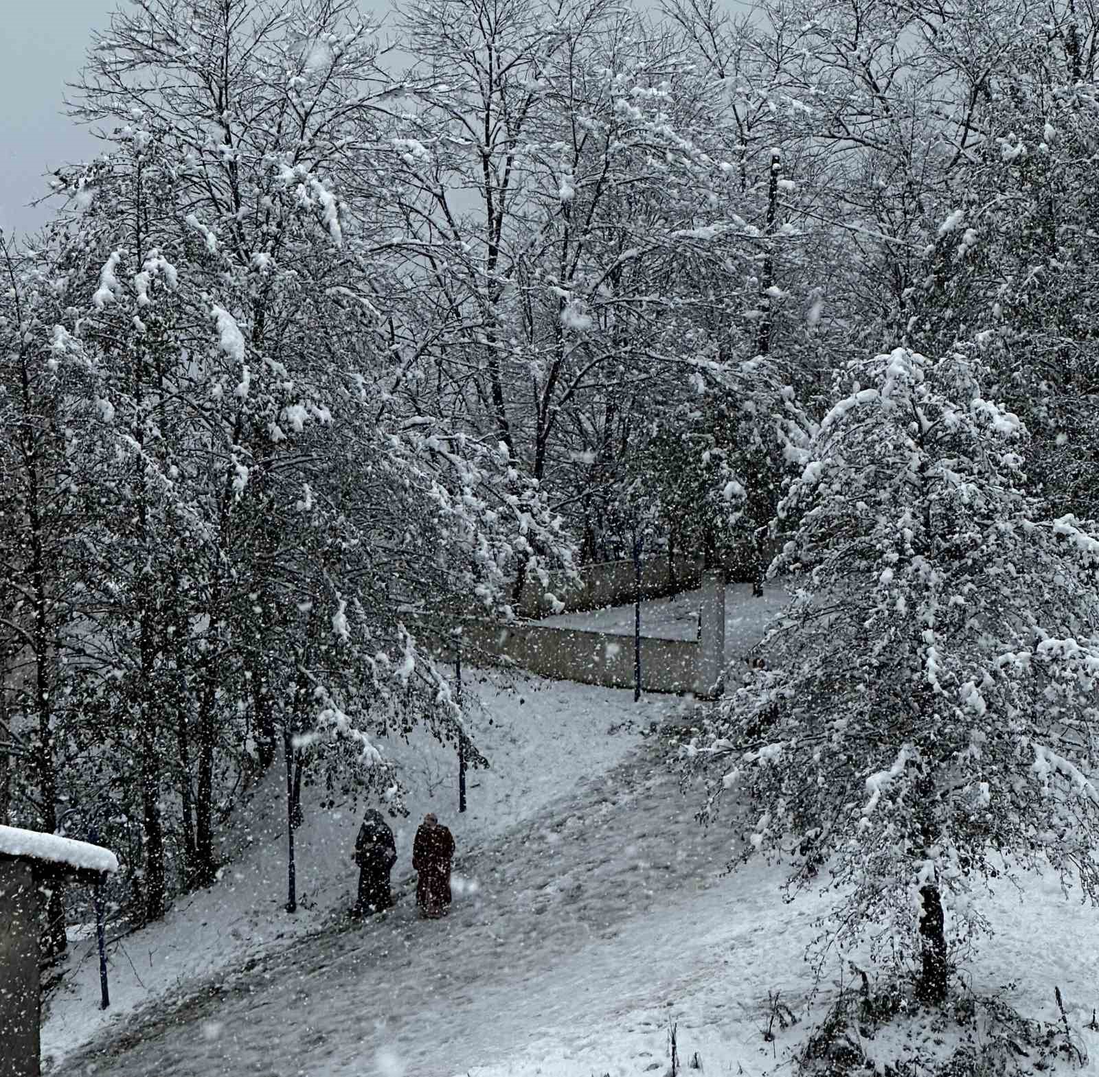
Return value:
M 496 433 L 586 558 L 624 553 L 628 458 L 702 394 L 739 407 L 759 338 L 761 229 L 740 216 L 758 192 L 730 182 L 720 90 L 681 35 L 606 0 L 423 0 L 402 20 L 418 110 L 389 175 L 421 372 L 401 392 L 439 389 Z

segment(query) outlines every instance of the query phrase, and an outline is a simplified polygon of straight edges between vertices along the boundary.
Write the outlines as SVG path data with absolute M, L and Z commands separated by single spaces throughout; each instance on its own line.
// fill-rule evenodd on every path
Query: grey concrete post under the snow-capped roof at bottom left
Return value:
M 0 857 L 0 1077 L 40 1077 L 37 895 L 30 860 Z

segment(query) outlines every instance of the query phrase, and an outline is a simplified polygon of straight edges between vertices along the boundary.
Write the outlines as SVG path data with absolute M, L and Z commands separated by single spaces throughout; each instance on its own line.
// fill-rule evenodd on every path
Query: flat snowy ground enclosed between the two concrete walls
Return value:
M 698 632 L 700 592 L 685 591 L 670 598 L 652 598 L 641 604 L 641 631 L 656 639 L 695 639 Z M 758 642 L 764 626 L 785 605 L 781 587 L 768 586 L 763 596 L 753 596 L 752 584 L 731 583 L 725 587 L 725 654 L 741 658 Z M 544 625 L 586 628 L 619 636 L 633 635 L 633 606 L 609 606 L 585 614 L 546 617 Z

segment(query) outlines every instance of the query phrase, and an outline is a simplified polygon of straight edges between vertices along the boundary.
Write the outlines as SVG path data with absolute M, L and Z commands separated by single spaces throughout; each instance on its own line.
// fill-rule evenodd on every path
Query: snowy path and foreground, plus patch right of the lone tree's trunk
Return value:
M 447 920 L 418 920 L 406 888 L 381 920 L 184 985 L 59 1072 L 663 1077 L 671 1023 L 681 1062 L 697 1053 L 704 1073 L 788 1072 L 810 1023 L 802 954 L 822 899 L 785 905 L 766 865 L 723 877 L 730 830 L 695 822 L 662 750 L 645 742 L 464 856 Z M 1018 980 L 1012 1000 L 1046 1019 L 1059 986 L 1099 1057 L 1083 1032 L 1099 1001 L 1099 947 L 1080 945 L 1092 910 L 1052 879 L 990 908 L 1000 934 L 975 986 Z M 768 991 L 802 1018 L 775 1043 L 762 1035 Z

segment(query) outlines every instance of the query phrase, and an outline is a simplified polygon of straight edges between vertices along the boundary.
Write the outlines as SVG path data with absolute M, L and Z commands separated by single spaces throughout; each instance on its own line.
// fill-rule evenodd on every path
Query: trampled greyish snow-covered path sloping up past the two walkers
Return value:
M 448 1077 L 547 1034 L 562 1048 L 568 1030 L 579 1050 L 592 1023 L 700 991 L 715 1024 L 743 1033 L 741 1006 L 796 994 L 782 979 L 801 976 L 811 902 L 784 907 L 776 872 L 719 878 L 728 823 L 695 821 L 658 752 L 646 745 L 459 863 L 468 888 L 448 919 L 418 920 L 406 889 L 385 921 L 269 953 L 58 1072 Z M 689 933 L 668 930 L 684 922 Z M 723 972 L 737 997 L 715 989 Z

